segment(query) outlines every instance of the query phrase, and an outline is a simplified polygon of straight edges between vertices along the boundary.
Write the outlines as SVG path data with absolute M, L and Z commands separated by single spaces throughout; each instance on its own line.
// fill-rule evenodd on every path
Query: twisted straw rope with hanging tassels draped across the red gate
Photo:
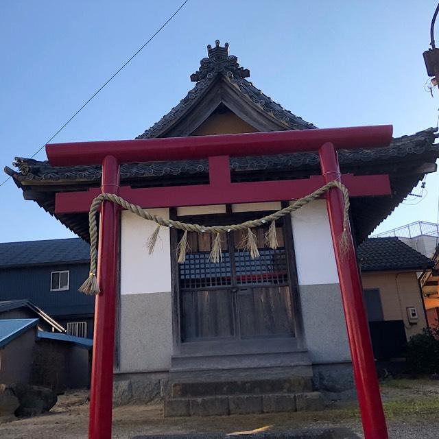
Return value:
M 189 246 L 187 242 L 187 233 L 188 232 L 198 232 L 198 233 L 215 233 L 215 239 L 213 241 L 213 248 L 211 250 L 211 254 L 209 255 L 209 261 L 213 263 L 217 263 L 222 261 L 222 251 L 221 251 L 221 234 L 228 233 L 233 230 L 246 230 L 247 235 L 244 238 L 244 241 L 241 243 L 242 248 L 245 248 L 250 252 L 250 257 L 252 259 L 259 257 L 259 250 L 257 246 L 257 237 L 252 232 L 252 228 L 262 226 L 263 224 L 269 224 L 268 233 L 265 234 L 265 242 L 270 246 L 270 248 L 278 248 L 278 241 L 276 237 L 276 219 L 280 219 L 285 215 L 289 215 L 294 211 L 300 209 L 300 207 L 305 206 L 312 200 L 316 200 L 316 198 L 320 198 L 325 192 L 330 189 L 340 189 L 344 198 L 344 216 L 343 216 L 343 233 L 340 236 L 340 250 L 342 252 L 346 252 L 346 248 L 348 246 L 348 214 L 349 214 L 349 194 L 346 186 L 342 184 L 342 182 L 334 180 L 327 185 L 316 189 L 309 195 L 303 198 L 299 198 L 294 201 L 290 206 L 281 209 L 280 211 L 274 212 L 271 215 L 267 215 L 265 217 L 259 219 L 252 219 L 250 221 L 243 222 L 241 224 L 233 224 L 230 226 L 201 226 L 200 224 L 189 224 L 185 222 L 176 221 L 174 219 L 166 219 L 159 215 L 154 215 L 148 211 L 144 211 L 141 206 L 137 204 L 131 204 L 127 200 L 119 197 L 119 195 L 115 195 L 114 193 L 101 193 L 98 195 L 90 206 L 90 211 L 88 212 L 88 223 L 90 228 L 90 273 L 86 281 L 81 285 L 80 292 L 85 294 L 98 294 L 100 292 L 99 285 L 97 283 L 96 278 L 96 267 L 97 267 L 97 222 L 96 222 L 96 213 L 97 209 L 99 209 L 99 205 L 103 201 L 110 201 L 115 204 L 118 204 L 123 209 L 138 215 L 143 219 L 150 219 L 151 221 L 156 222 L 157 227 L 154 230 L 154 233 L 149 237 L 147 241 L 148 252 L 152 254 L 154 251 L 154 246 L 156 244 L 158 238 L 158 232 L 161 226 L 164 227 L 175 227 L 179 230 L 184 230 L 182 238 L 180 239 L 177 246 L 177 257 L 178 263 L 184 263 L 186 260 L 186 253 L 189 251 Z

